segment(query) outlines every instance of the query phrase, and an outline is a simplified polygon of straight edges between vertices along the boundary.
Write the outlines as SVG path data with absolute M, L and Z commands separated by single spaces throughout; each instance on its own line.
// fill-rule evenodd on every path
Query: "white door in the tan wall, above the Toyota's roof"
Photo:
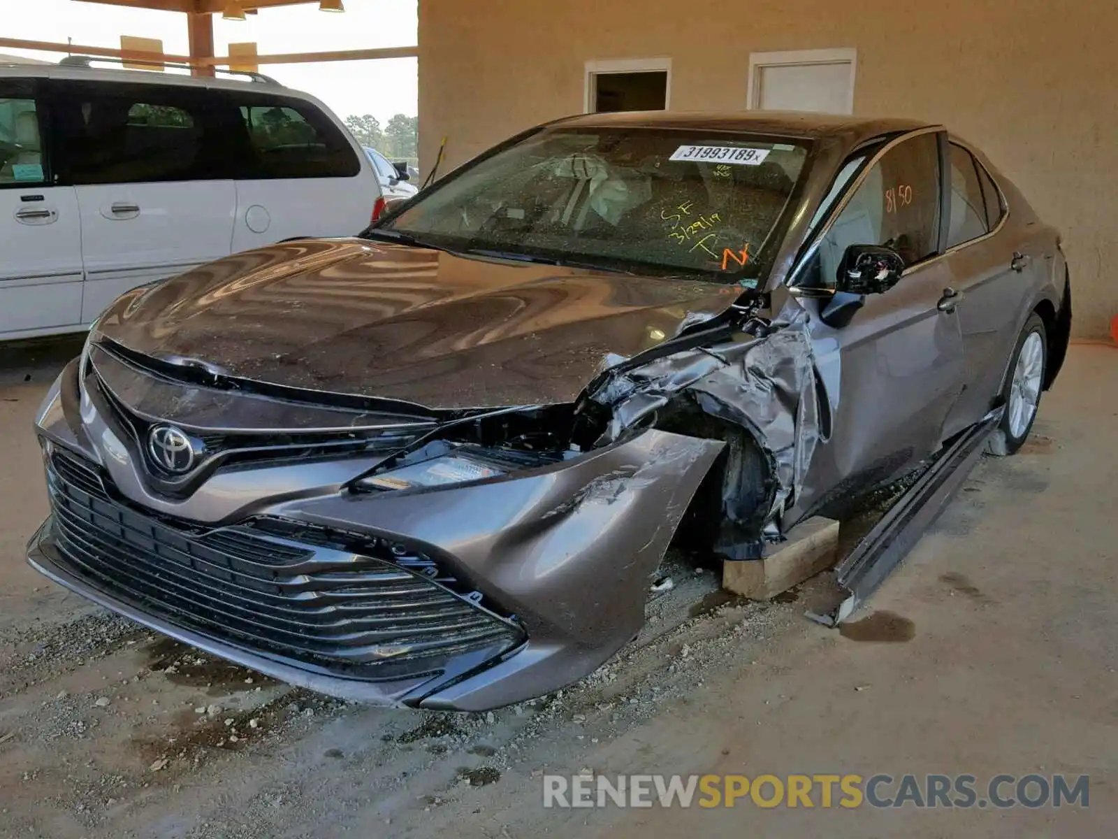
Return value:
M 750 109 L 854 112 L 853 49 L 755 53 L 749 58 Z

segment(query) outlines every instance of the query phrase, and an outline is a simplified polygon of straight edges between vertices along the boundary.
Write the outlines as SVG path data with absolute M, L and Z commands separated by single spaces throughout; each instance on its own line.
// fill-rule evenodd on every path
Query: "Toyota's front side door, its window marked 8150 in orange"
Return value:
M 940 251 L 941 132 L 907 135 L 883 153 L 805 264 L 797 285 L 834 287 L 850 245 L 892 247 L 906 262 L 898 283 L 865 296 L 842 328 L 819 319 L 826 299 L 802 299 L 819 375 L 830 437 L 815 452 L 795 500 L 795 518 L 844 501 L 936 452 L 963 392 L 963 337 L 945 292 L 951 273 Z

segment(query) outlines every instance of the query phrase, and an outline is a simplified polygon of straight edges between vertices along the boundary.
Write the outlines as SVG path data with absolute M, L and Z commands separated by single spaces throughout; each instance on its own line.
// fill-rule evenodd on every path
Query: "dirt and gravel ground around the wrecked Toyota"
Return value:
M 1118 352 L 1077 347 L 1034 439 L 965 491 L 840 633 L 678 567 L 590 678 L 492 714 L 335 703 L 161 640 L 39 577 L 30 433 L 0 381 L 0 836 L 1118 835 Z M 30 377 L 30 380 L 23 379 Z M 1090 807 L 544 810 L 546 772 L 1090 775 Z

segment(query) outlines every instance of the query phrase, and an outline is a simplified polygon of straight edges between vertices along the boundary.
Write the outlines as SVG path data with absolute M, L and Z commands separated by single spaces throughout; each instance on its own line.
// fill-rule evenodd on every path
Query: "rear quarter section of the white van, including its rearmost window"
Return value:
M 233 249 L 295 236 L 353 236 L 380 196 L 372 163 L 314 102 L 229 92 L 240 114 L 227 140 L 237 155 Z

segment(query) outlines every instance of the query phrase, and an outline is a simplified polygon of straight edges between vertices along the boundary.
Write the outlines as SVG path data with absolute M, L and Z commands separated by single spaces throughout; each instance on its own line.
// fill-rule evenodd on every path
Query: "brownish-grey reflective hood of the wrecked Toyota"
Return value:
M 301 239 L 138 289 L 97 330 L 134 351 L 197 359 L 237 378 L 430 408 L 499 407 L 570 402 L 609 356 L 646 350 L 726 311 L 739 293 Z

